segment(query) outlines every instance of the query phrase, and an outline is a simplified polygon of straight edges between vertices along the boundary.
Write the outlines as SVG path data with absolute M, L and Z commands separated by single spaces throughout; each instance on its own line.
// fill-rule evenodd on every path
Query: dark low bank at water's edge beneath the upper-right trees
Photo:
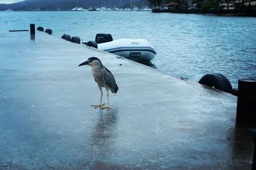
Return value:
M 256 10 L 152 10 L 153 13 L 186 13 L 186 14 L 209 14 L 221 16 L 239 16 L 239 17 L 256 17 Z

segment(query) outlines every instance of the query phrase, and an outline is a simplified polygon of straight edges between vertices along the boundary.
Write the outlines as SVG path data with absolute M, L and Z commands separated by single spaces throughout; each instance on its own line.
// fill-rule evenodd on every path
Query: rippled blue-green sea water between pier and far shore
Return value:
M 144 38 L 157 50 L 158 70 L 198 82 L 222 73 L 234 88 L 241 78 L 256 78 L 256 18 L 151 12 L 0 12 L 0 31 L 29 29 L 29 24 L 94 40 Z

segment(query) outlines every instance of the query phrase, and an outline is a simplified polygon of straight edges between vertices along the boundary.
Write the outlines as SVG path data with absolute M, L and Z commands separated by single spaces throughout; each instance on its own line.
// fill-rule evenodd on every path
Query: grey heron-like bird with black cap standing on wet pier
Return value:
M 117 93 L 118 91 L 118 86 L 116 84 L 115 77 L 108 70 L 108 68 L 106 68 L 106 66 L 102 65 L 99 58 L 95 58 L 95 57 L 88 58 L 87 61 L 84 61 L 78 66 L 83 66 L 83 65 L 91 66 L 92 75 L 100 89 L 100 103 L 96 105 L 91 105 L 91 106 L 95 108 L 101 107 L 102 109 L 106 109 L 106 108 L 111 109 L 109 105 L 109 89 L 111 90 L 112 93 Z M 106 91 L 107 91 L 107 95 L 108 95 L 107 105 L 102 104 L 102 95 L 103 95 L 102 88 L 106 88 Z

